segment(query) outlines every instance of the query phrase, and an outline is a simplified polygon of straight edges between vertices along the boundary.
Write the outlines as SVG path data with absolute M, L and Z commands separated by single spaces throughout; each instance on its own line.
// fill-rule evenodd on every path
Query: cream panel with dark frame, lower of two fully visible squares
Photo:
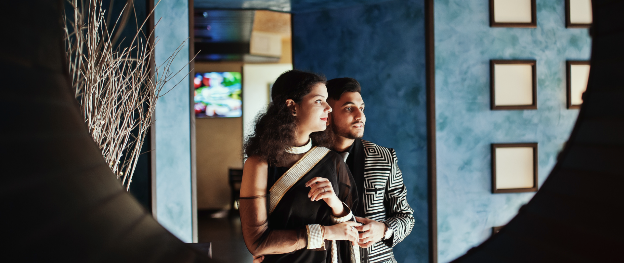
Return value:
M 537 143 L 492 143 L 492 193 L 537 191 Z

